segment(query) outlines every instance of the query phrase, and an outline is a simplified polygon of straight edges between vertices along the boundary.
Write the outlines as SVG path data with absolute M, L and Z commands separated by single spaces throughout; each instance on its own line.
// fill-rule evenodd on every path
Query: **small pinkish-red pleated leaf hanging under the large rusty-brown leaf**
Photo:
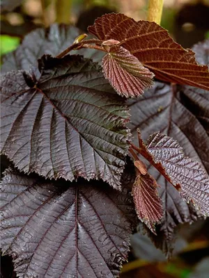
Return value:
M 114 46 L 102 58 L 104 77 L 119 95 L 139 97 L 153 85 L 154 74 L 144 67 L 127 49 Z

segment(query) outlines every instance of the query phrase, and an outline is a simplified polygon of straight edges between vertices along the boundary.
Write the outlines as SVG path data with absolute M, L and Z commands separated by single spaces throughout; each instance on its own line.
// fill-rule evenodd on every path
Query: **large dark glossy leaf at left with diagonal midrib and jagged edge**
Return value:
M 40 72 L 1 82 L 1 152 L 49 179 L 103 179 L 120 187 L 130 133 L 124 99 L 82 56 L 43 56 Z

